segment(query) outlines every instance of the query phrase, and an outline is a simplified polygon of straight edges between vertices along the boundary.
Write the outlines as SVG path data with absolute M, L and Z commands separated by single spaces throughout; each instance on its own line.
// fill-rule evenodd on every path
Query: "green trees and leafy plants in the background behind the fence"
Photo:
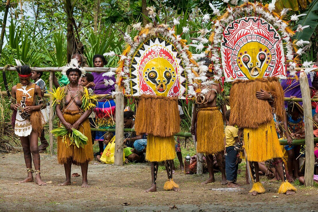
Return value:
M 33 67 L 61 67 L 66 64 L 66 27 L 67 14 L 65 2 L 74 0 L 12 0 L 9 9 L 10 24 L 7 24 L 5 46 L 3 46 L 0 66 L 15 64 L 14 59 L 20 59 Z M 297 0 L 286 0 L 289 4 Z M 269 0 L 263 3 L 271 2 Z M 280 1 L 277 1 L 280 2 Z M 189 26 L 192 31 L 202 28 L 200 17 L 202 13 L 212 13 L 209 3 L 225 10 L 227 4 L 222 0 L 146 0 L 147 6 L 154 6 L 158 14 L 159 23 L 171 23 L 173 18 L 180 17 L 180 25 L 175 31 L 182 33 L 183 26 Z M 0 23 L 2 24 L 5 1 L 0 4 Z M 298 5 L 298 3 L 297 3 Z M 302 17 L 299 23 L 311 25 L 298 38 L 310 40 L 312 48 L 305 57 L 314 60 L 317 53 L 317 9 L 318 0 L 306 4 L 305 9 L 298 5 L 293 6 L 290 13 L 301 14 L 307 12 L 308 16 Z M 2 13 L 1 13 L 2 11 Z M 95 18 L 94 18 L 95 17 Z M 87 64 L 92 67 L 94 54 L 103 54 L 114 51 L 120 54 L 124 48 L 123 32 L 134 36 L 135 31 L 131 24 L 142 22 L 142 0 L 81 0 L 77 1 L 73 11 L 79 39 L 84 44 L 84 55 Z M 211 17 L 212 18 L 212 17 Z M 296 23 L 294 23 L 296 24 Z M 190 43 L 190 37 L 195 33 L 182 34 L 183 39 Z M 190 47 L 190 50 L 193 47 Z M 118 58 L 108 58 L 107 67 L 116 67 Z M 48 83 L 48 73 L 43 79 Z M 9 87 L 17 83 L 17 75 L 7 72 Z M 2 75 L 0 87 L 4 90 Z M 192 104 L 181 102 L 186 118 L 182 122 L 182 131 L 189 131 Z

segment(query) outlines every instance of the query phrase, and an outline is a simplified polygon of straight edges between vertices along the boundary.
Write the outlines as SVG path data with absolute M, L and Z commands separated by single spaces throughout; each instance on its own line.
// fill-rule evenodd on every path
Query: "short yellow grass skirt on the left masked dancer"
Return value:
M 175 139 L 173 136 L 158 137 L 148 134 L 146 160 L 161 162 L 175 158 Z

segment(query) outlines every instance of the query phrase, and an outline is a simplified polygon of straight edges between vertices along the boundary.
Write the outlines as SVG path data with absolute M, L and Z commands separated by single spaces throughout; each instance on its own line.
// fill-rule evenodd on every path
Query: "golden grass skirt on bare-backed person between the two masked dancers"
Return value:
M 197 152 L 216 154 L 224 150 L 224 124 L 218 107 L 200 108 L 197 115 Z

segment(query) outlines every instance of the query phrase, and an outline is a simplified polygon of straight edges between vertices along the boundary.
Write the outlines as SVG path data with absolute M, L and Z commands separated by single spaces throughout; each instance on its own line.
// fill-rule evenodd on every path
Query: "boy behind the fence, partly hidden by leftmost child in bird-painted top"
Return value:
M 45 82 L 41 79 L 43 72 L 36 72 L 36 71 L 31 71 L 31 79 L 34 80 L 34 84 L 38 85 L 41 90 L 42 90 L 42 96 L 44 96 L 44 93 L 46 93 L 46 85 Z M 48 121 L 48 112 L 49 112 L 49 107 L 42 109 L 41 112 L 43 114 L 43 117 L 45 121 Z M 46 118 L 45 118 L 46 117 Z M 41 145 L 39 146 L 39 152 L 44 152 L 46 150 L 46 147 L 49 146 L 49 143 L 47 143 L 47 140 L 45 139 L 44 136 L 44 129 L 41 132 L 41 135 L 39 135 L 40 140 L 41 140 Z

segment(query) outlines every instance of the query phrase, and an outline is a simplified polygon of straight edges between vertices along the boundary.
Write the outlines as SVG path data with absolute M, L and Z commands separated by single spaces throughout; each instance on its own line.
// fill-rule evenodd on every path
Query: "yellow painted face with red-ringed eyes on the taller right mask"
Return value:
M 271 60 L 269 49 L 259 42 L 246 43 L 237 57 L 239 68 L 248 79 L 262 78 Z

